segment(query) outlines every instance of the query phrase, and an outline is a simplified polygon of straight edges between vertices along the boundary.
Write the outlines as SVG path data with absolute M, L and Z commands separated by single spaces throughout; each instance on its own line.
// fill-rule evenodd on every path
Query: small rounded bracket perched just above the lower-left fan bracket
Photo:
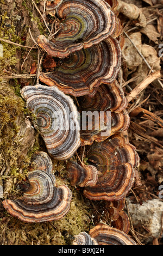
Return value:
M 43 170 L 44 172 L 52 173 L 53 163 L 46 152 L 39 151 L 33 154 L 30 164 L 30 171 Z

